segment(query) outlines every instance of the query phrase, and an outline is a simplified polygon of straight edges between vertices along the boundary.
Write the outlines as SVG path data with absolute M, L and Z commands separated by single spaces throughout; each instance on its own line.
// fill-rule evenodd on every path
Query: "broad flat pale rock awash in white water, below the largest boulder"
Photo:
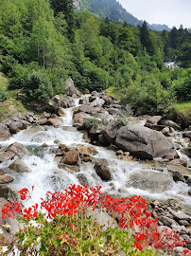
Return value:
M 131 174 L 127 186 L 159 193 L 167 191 L 172 183 L 173 178 L 169 174 L 145 171 Z

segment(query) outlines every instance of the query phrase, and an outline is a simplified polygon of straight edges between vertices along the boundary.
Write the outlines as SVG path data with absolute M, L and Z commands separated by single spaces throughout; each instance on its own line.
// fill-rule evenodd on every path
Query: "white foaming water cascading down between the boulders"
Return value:
M 78 106 L 78 100 L 75 102 Z M 31 170 L 26 174 L 13 174 L 14 181 L 9 185 L 15 191 L 22 188 L 30 189 L 34 186 L 33 197 L 35 202 L 39 202 L 47 191 L 62 191 L 69 184 L 80 184 L 83 181 L 89 186 L 102 186 L 103 192 L 111 193 L 115 196 L 128 196 L 140 194 L 149 198 L 167 199 L 172 197 L 181 198 L 186 205 L 191 205 L 191 199 L 186 196 L 188 186 L 182 182 L 175 183 L 171 180 L 167 185 L 163 184 L 164 190 L 157 188 L 158 183 L 149 183 L 145 177 L 160 176 L 168 177 L 166 172 L 154 171 L 151 168 L 143 169 L 138 161 L 124 161 L 117 158 L 113 150 L 95 146 L 97 155 L 95 158 L 105 158 L 108 160 L 109 168 L 113 172 L 113 180 L 104 182 L 96 174 L 93 163 L 81 163 L 79 172 L 71 174 L 61 170 L 54 161 L 55 150 L 59 144 L 76 146 L 78 144 L 88 145 L 83 139 L 83 134 L 78 131 L 70 131 L 68 126 L 73 124 L 73 110 L 75 107 L 65 109 L 65 116 L 62 119 L 63 126 L 60 128 L 50 126 L 28 127 L 26 130 L 10 137 L 2 142 L 2 146 L 18 141 L 24 144 L 31 155 L 25 155 L 21 159 Z M 41 147 L 43 144 L 46 147 Z M 92 145 L 91 145 L 92 146 Z M 14 158 L 15 160 L 15 158 Z M 3 162 L 0 168 L 6 168 L 13 160 Z M 145 179 L 143 181 L 143 179 Z M 165 180 L 164 180 L 165 182 Z

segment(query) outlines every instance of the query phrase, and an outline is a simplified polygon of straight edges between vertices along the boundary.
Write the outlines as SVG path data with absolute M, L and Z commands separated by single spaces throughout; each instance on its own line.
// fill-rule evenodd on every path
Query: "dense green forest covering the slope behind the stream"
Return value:
M 172 61 L 179 67 L 165 67 Z M 0 71 L 0 101 L 14 90 L 46 101 L 71 77 L 83 93 L 107 89 L 134 113 L 157 114 L 191 101 L 191 33 L 114 23 L 73 0 L 1 0 Z

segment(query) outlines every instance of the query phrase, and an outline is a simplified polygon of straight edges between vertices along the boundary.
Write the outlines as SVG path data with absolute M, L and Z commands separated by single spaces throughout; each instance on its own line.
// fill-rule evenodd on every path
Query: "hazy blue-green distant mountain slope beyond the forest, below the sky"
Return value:
M 130 14 L 116 0 L 75 0 L 75 6 L 79 10 L 88 10 L 100 18 L 108 17 L 114 22 L 127 22 L 132 26 L 143 24 L 142 20 Z M 148 27 L 159 31 L 170 30 L 166 25 L 148 24 Z

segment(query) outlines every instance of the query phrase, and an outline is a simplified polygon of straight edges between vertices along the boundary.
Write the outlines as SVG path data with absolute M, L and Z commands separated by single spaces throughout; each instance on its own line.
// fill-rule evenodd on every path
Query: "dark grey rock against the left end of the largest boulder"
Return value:
M 117 122 L 113 122 L 109 125 L 107 125 L 103 130 L 102 130 L 102 135 L 110 142 L 114 143 L 116 134 L 118 129 L 120 128 L 119 124 Z

